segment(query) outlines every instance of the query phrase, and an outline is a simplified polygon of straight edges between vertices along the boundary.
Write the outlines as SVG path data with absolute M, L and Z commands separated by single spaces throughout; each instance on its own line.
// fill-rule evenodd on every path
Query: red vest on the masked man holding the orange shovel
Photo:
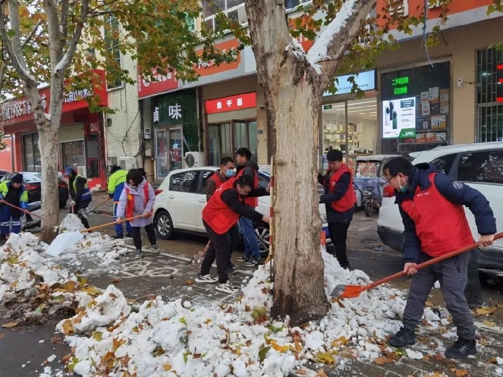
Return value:
M 430 187 L 417 186 L 413 200 L 404 200 L 400 206 L 415 225 L 421 249 L 432 257 L 461 249 L 473 243 L 463 206 L 447 200 L 435 186 L 435 174 L 428 179 Z

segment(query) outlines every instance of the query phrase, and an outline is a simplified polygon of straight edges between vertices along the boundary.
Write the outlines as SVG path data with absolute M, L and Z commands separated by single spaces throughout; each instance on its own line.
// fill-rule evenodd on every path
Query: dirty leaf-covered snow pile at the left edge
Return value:
M 17 322 L 45 321 L 75 313 L 101 290 L 40 253 L 31 233 L 11 234 L 0 248 L 0 316 Z

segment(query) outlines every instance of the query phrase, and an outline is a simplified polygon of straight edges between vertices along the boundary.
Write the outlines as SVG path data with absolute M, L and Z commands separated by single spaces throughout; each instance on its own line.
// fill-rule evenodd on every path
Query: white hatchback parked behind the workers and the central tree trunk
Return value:
M 206 205 L 206 180 L 218 167 L 206 166 L 190 169 L 178 169 L 169 173 L 157 190 L 154 204 L 154 226 L 157 235 L 170 239 L 173 233 L 187 232 L 205 234 L 202 211 Z M 271 176 L 267 171 L 258 173 L 259 185 L 267 187 Z M 259 198 L 257 211 L 269 215 L 269 196 Z M 323 230 L 328 238 L 325 206 L 319 206 L 323 221 Z M 263 256 L 269 250 L 269 225 L 264 222 L 255 224 L 255 233 Z

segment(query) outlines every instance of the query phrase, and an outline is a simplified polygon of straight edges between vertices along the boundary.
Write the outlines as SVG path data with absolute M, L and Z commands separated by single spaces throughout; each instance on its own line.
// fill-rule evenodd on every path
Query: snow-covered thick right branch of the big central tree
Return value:
M 321 75 L 321 63 L 325 66 L 324 86 L 337 70 L 340 59 L 358 34 L 376 0 L 347 0 L 336 17 L 321 32 L 307 53 L 307 61 Z

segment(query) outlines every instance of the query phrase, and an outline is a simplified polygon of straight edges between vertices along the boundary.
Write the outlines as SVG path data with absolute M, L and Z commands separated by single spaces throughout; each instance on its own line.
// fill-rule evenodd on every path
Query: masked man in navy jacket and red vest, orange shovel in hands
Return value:
M 480 247 L 491 245 L 496 220 L 489 202 L 477 190 L 438 172 L 430 163 L 414 166 L 404 157 L 395 157 L 384 165 L 383 171 L 395 189 L 395 203 L 404 226 L 403 271 L 412 276 L 403 327 L 389 343 L 395 347 L 415 343 L 414 330 L 423 318 L 430 291 L 439 280 L 458 333 L 458 340 L 445 355 L 456 359 L 474 355 L 475 327 L 464 295 L 470 254 L 462 253 L 420 270 L 414 267 L 474 243 L 464 206 L 475 217 Z

